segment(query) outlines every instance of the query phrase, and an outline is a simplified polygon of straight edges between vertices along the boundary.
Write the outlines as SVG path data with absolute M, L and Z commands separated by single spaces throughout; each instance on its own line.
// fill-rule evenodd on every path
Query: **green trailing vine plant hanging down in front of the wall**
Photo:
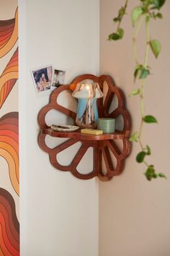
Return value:
M 131 21 L 134 27 L 133 35 L 133 55 L 135 59 L 135 69 L 134 69 L 134 82 L 140 80 L 140 88 L 135 88 L 130 95 L 139 96 L 140 98 L 140 125 L 137 132 L 134 132 L 130 137 L 130 141 L 138 142 L 140 145 L 140 152 L 136 156 L 136 161 L 138 163 L 143 163 L 146 166 L 145 176 L 146 179 L 151 180 L 157 177 L 166 176 L 162 173 L 158 173 L 153 164 L 148 163 L 147 157 L 151 155 L 151 148 L 148 145 L 143 145 L 141 135 L 143 132 L 143 124 L 153 124 L 157 123 L 157 119 L 152 115 L 145 114 L 145 101 L 144 101 L 144 91 L 146 87 L 146 80 L 148 75 L 151 73 L 151 67 L 148 66 L 148 53 L 152 51 L 153 55 L 158 58 L 161 51 L 161 43 L 156 39 L 151 39 L 149 25 L 151 20 L 161 19 L 163 15 L 160 12 L 161 7 L 165 4 L 166 0 L 138 0 L 138 6 L 134 7 L 131 13 Z M 126 14 L 126 9 L 128 7 L 128 0 L 125 1 L 125 5 L 118 11 L 117 17 L 113 19 L 113 22 L 117 24 L 117 29 L 114 33 L 110 34 L 108 40 L 120 40 L 124 35 L 124 30 L 121 27 L 122 19 Z M 138 61 L 138 51 L 136 45 L 136 39 L 138 38 L 138 33 L 143 23 L 145 23 L 146 28 L 146 42 L 145 43 L 145 56 L 143 63 Z

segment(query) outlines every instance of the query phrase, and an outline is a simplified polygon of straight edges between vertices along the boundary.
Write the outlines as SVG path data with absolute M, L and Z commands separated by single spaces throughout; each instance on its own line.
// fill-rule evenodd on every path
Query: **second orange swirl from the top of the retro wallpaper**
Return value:
M 18 48 L 0 77 L 0 108 L 18 79 Z

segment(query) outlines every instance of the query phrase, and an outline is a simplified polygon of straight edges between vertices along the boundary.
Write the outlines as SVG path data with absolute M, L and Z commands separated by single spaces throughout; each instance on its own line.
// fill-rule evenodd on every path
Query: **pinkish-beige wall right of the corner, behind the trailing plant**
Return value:
M 129 98 L 133 90 L 133 54 L 130 17 L 127 15 L 122 27 L 125 38 L 109 42 L 112 33 L 112 18 L 124 1 L 101 0 L 101 73 L 111 74 L 127 97 L 128 109 L 133 119 L 133 130 L 138 129 L 138 98 Z M 131 0 L 128 14 L 137 1 Z M 161 40 L 162 50 L 155 61 L 150 55 L 152 74 L 146 88 L 146 113 L 158 119 L 158 125 L 146 125 L 144 137 L 151 146 L 151 161 L 158 171 L 164 172 L 168 180 L 148 182 L 143 175 L 143 166 L 135 163 L 138 145 L 127 159 L 122 175 L 111 182 L 99 185 L 99 252 L 100 256 L 169 256 L 170 255 L 170 175 L 169 175 L 169 41 L 170 2 L 163 9 L 164 20 L 154 21 L 152 38 Z M 140 35 L 139 48 L 143 51 Z M 143 56 L 143 54 L 140 54 Z

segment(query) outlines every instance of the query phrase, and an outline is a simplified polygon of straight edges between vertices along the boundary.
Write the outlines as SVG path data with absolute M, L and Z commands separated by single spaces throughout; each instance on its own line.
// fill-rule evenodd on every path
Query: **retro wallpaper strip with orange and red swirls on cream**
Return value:
M 0 256 L 19 255 L 18 9 L 0 0 Z

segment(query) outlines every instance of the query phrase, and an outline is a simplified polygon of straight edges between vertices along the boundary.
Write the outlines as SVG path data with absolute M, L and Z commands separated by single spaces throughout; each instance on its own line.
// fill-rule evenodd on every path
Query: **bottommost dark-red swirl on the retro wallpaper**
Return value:
M 0 188 L 0 255 L 19 256 L 19 222 L 12 195 Z

